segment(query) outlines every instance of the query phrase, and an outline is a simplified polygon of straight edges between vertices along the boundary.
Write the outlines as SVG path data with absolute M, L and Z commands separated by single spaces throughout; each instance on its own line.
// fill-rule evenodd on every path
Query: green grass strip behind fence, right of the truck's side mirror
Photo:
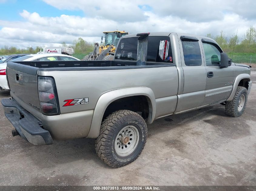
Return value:
M 228 57 L 232 57 L 232 52 L 228 53 Z M 232 62 L 235 63 L 256 63 L 256 53 L 234 53 Z

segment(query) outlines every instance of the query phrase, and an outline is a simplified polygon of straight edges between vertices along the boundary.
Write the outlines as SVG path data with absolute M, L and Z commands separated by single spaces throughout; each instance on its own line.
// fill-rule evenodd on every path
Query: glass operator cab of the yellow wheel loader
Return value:
M 125 31 L 110 31 L 110 32 L 103 32 L 105 34 L 105 46 L 106 45 L 114 45 L 117 46 L 117 43 L 119 39 L 122 36 L 125 36 L 128 34 L 128 32 Z M 103 37 L 101 37 L 101 42 L 102 42 Z

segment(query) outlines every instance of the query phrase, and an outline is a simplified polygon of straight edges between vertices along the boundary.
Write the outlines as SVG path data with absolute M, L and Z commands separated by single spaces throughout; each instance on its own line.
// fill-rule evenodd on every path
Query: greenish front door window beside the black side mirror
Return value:
M 206 65 L 220 65 L 222 53 L 221 49 L 212 43 L 203 43 L 203 46 Z

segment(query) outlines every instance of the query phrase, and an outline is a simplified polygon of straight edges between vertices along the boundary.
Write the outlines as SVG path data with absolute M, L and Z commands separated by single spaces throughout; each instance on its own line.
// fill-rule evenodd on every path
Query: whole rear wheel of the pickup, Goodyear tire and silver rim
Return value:
M 111 167 L 122 167 L 141 154 L 148 135 L 147 124 L 138 114 L 119 110 L 101 123 L 95 142 L 98 156 Z

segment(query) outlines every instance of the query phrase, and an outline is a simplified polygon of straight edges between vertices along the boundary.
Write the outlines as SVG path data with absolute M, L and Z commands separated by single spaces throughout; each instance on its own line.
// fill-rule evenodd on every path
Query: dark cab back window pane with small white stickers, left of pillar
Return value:
M 115 53 L 115 59 L 137 60 L 137 46 L 138 37 L 121 39 Z

